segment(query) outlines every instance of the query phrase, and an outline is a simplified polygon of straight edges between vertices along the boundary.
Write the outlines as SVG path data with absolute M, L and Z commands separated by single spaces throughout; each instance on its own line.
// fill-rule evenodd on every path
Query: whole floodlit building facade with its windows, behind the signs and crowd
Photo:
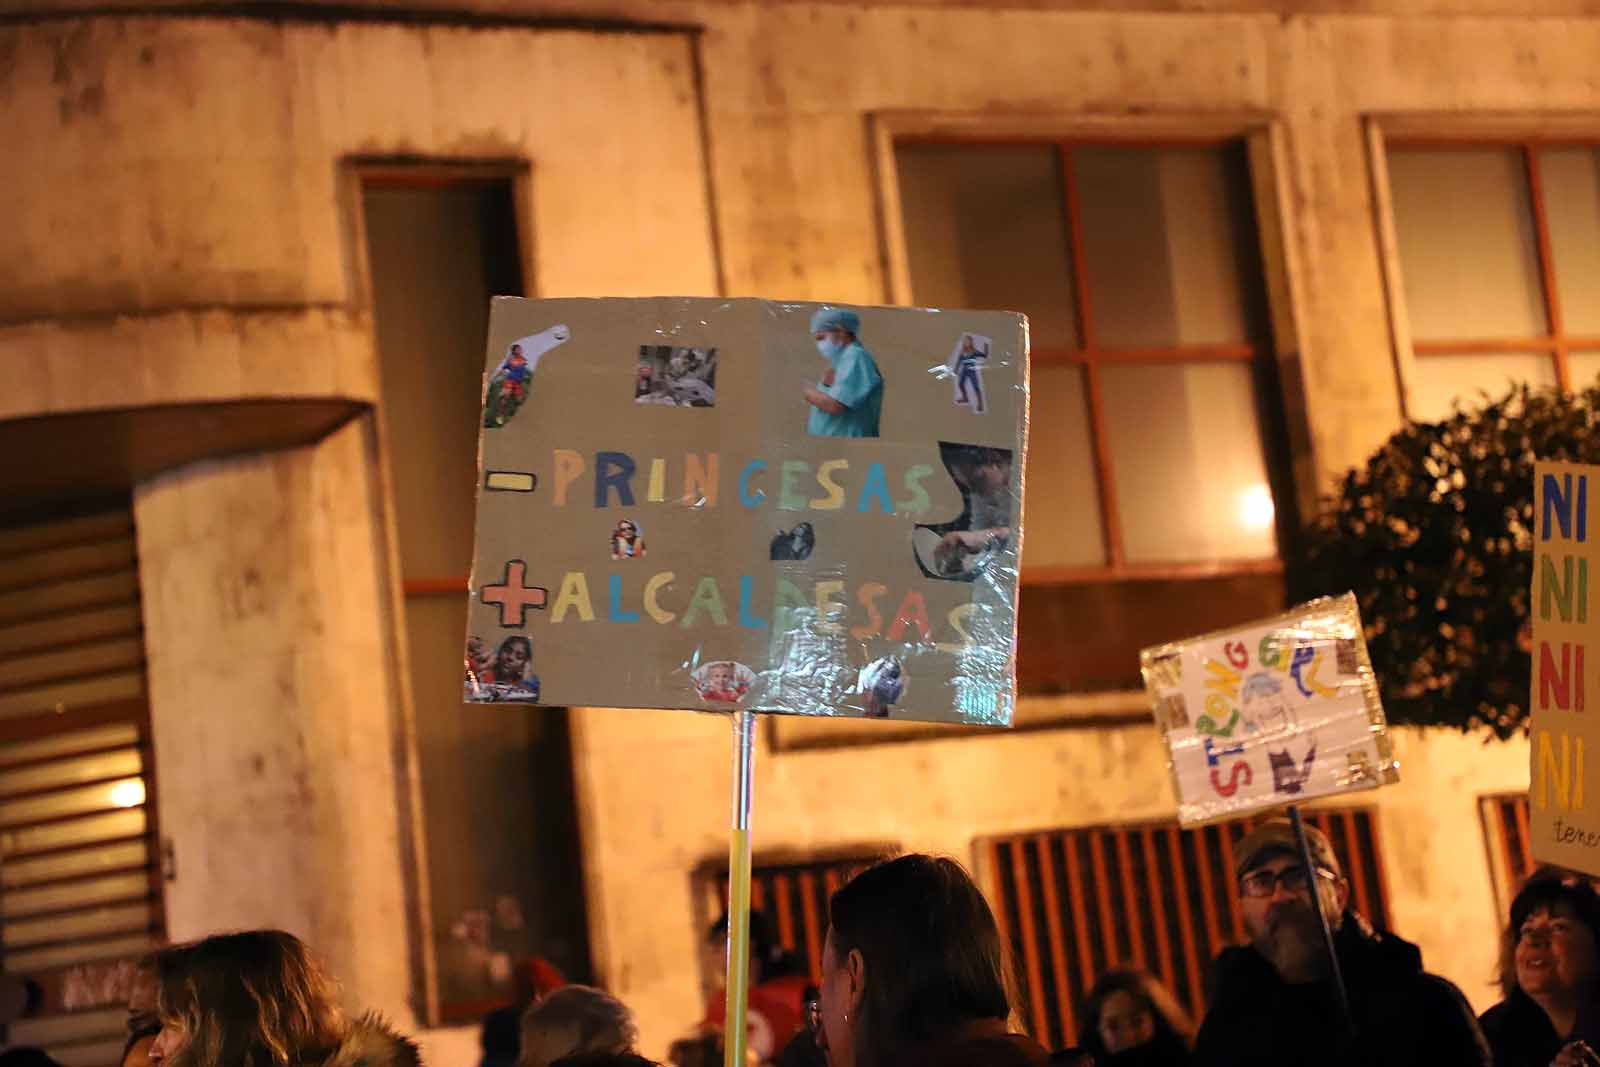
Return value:
M 0 774 L 42 758 L 6 745 L 133 707 L 142 763 L 83 773 L 146 782 L 117 840 L 150 846 L 117 865 L 142 891 L 38 912 L 82 929 L 6 929 L 8 969 L 18 944 L 66 944 L 30 961 L 61 976 L 278 925 L 430 1027 L 437 1062 L 475 1054 L 450 1024 L 534 952 L 629 1001 L 645 1051 L 686 1032 L 728 721 L 467 712 L 456 595 L 486 296 L 726 294 L 1006 306 L 1035 352 L 1019 729 L 763 728 L 786 936 L 814 933 L 829 864 L 936 849 L 1026 942 L 1048 1037 L 1112 958 L 1197 993 L 1182 960 L 1210 942 L 1126 918 L 1174 877 L 1149 849 L 1178 848 L 1130 656 L 1282 603 L 1280 545 L 1405 418 L 1600 371 L 1600 8 L 422 6 L 0 3 L 0 568 L 22 561 L 0 569 Z M 61 515 L 107 509 L 134 651 L 122 688 L 72 688 L 106 672 L 38 649 L 104 653 L 110 630 L 74 627 L 110 600 L 29 590 L 88 537 Z M 1397 755 L 1400 785 L 1330 809 L 1373 907 L 1482 1009 L 1526 747 L 1400 729 Z M 1090 885 L 1088 829 L 1128 894 L 1101 901 L 1122 926 L 1098 955 L 1072 947 L 1083 905 L 1043 899 Z M 85 833 L 0 840 L 0 891 L 8 857 Z M 1046 937 L 1032 915 L 1070 918 Z M 99 1062 L 120 1014 L 56 1006 L 32 1035 Z

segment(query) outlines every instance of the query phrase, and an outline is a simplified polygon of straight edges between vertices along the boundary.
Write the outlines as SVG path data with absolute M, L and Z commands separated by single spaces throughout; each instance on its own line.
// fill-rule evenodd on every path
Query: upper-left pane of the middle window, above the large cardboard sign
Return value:
M 1035 349 L 1077 347 L 1066 186 L 1053 144 L 901 144 L 912 299 L 1022 312 Z

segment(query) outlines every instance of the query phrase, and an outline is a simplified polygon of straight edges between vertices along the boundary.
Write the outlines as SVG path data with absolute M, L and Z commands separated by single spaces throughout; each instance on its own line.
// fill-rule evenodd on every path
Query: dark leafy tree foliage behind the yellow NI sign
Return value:
M 1597 406 L 1595 387 L 1517 386 L 1408 424 L 1304 531 L 1290 592 L 1355 592 L 1392 723 L 1525 726 L 1533 464 L 1600 462 Z

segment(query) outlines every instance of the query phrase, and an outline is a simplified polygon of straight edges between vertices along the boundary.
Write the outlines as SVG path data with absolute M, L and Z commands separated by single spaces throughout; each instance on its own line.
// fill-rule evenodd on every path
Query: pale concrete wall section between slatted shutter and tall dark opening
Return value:
M 173 939 L 282 926 L 410 1017 L 395 651 L 370 419 L 134 496 Z

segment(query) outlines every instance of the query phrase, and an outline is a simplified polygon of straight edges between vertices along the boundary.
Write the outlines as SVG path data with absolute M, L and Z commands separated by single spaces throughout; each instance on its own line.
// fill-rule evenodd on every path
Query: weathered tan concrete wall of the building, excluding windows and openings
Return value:
M 1282 147 L 1282 302 L 1296 326 L 1278 341 L 1304 381 L 1299 490 L 1315 494 L 1400 418 L 1363 117 L 1437 112 L 1448 130 L 1451 115 L 1498 112 L 1534 128 L 1600 112 L 1589 0 L 1538 8 L 1562 18 L 1509 18 L 1530 8 L 1499 0 L 1360 16 L 1120 0 L 456 6 L 704 30 L 691 43 L 224 18 L 0 27 L 5 187 L 21 205 L 0 227 L 0 362 L 26 368 L 0 418 L 381 398 L 341 178 L 350 157 L 530 160 L 522 237 L 544 294 L 694 294 L 720 277 L 730 294 L 880 301 L 872 114 L 1053 130 L 1253 117 Z M 136 510 L 174 934 L 288 923 L 360 1000 L 394 1008 L 413 977 L 395 963 L 410 793 L 403 761 L 371 753 L 405 699 L 376 696 L 368 672 L 405 648 L 360 608 L 394 592 L 382 458 L 350 429 L 163 478 Z M 688 870 L 725 848 L 728 725 L 587 710 L 576 729 L 597 961 L 659 1053 L 699 1013 Z M 1376 798 L 1395 921 L 1482 1006 L 1494 917 L 1474 798 L 1523 787 L 1526 752 L 1406 731 L 1400 753 L 1405 784 Z M 1166 813 L 1165 781 L 1142 726 L 763 752 L 755 832 L 760 848 L 898 840 L 970 859 L 979 835 Z M 240 851 L 242 830 L 301 877 L 246 877 L 269 865 Z M 314 894 L 312 880 L 354 893 Z M 466 1062 L 459 1038 L 440 1041 Z

